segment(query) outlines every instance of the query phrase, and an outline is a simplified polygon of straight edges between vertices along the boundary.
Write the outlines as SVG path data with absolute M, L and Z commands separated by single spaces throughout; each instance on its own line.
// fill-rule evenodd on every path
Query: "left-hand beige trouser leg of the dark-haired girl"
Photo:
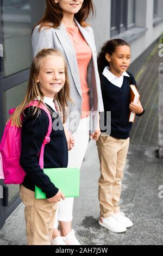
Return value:
M 100 216 L 108 218 L 114 215 L 113 186 L 117 168 L 117 154 L 121 148 L 119 140 L 111 136 L 101 136 L 97 141 L 98 156 L 101 163 L 101 176 L 98 181 Z

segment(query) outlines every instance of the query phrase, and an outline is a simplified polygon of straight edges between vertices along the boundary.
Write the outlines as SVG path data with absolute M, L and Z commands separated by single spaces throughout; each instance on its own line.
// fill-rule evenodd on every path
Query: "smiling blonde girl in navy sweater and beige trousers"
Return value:
M 49 119 L 39 107 L 24 108 L 33 100 L 47 107 L 52 124 L 62 121 L 55 109 L 57 101 L 65 120 L 65 108 L 70 101 L 67 68 L 62 54 L 54 49 L 43 49 L 35 56 L 28 82 L 26 96 L 12 115 L 12 123 L 22 127 L 20 164 L 26 176 L 20 185 L 20 197 L 26 205 L 26 235 L 28 245 L 51 245 L 57 202 L 64 194 L 51 182 L 39 166 L 39 154 L 48 131 Z M 24 118 L 21 121 L 21 114 Z M 64 129 L 53 127 L 51 141 L 44 150 L 44 167 L 67 167 L 68 149 Z M 73 139 L 71 141 L 73 144 Z M 35 199 L 35 185 L 46 193 L 47 199 Z

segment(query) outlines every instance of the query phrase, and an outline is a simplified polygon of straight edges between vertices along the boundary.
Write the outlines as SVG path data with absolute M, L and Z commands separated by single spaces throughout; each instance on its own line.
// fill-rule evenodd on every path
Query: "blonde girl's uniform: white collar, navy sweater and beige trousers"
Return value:
M 62 126 L 61 119 L 55 110 L 53 99 L 45 97 L 44 102 L 53 112 L 53 115 L 51 114 L 53 124 L 51 141 L 45 145 L 43 155 L 44 168 L 67 167 L 68 149 L 64 129 L 63 127 L 62 130 L 54 129 L 54 125 Z M 26 205 L 28 245 L 51 245 L 57 203 L 49 203 L 46 199 L 35 199 L 34 192 L 35 185 L 46 193 L 47 198 L 55 196 L 59 191 L 39 165 L 39 153 L 47 135 L 49 119 L 43 109 L 38 117 L 37 112 L 34 115 L 32 113 L 32 107 L 25 109 L 25 118 L 22 124 L 20 164 L 26 172 L 26 176 L 23 184 L 20 185 L 20 197 Z

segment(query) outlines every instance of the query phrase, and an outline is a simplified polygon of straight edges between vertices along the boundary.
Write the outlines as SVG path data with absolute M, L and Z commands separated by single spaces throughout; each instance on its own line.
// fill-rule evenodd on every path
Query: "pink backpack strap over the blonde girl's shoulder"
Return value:
M 40 165 L 41 169 L 43 169 L 44 148 L 45 148 L 45 145 L 51 141 L 50 135 L 51 135 L 51 132 L 52 132 L 52 118 L 51 118 L 51 114 L 49 113 L 47 107 L 45 105 L 43 105 L 42 103 L 38 106 L 38 101 L 37 100 L 34 100 L 34 101 L 30 102 L 29 105 L 26 106 L 26 108 L 31 107 L 31 106 L 36 106 L 36 107 L 39 107 L 39 108 L 43 109 L 43 111 L 45 111 L 47 113 L 48 118 L 49 118 L 48 131 L 47 131 L 47 135 L 45 136 L 45 139 L 42 143 L 42 147 L 41 147 L 41 151 L 40 151 L 40 158 L 39 158 L 39 165 Z

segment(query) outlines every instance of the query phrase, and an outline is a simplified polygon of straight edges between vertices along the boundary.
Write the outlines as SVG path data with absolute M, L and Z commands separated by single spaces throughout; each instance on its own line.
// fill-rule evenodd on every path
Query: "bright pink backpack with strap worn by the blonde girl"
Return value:
M 27 107 L 37 106 L 38 101 L 34 100 L 30 102 Z M 26 107 L 26 108 L 27 108 Z M 49 127 L 47 135 L 43 141 L 39 164 L 43 169 L 43 152 L 45 145 L 51 141 L 50 134 L 52 131 L 52 118 L 45 105 L 39 105 L 43 109 L 49 118 Z M 10 109 L 9 114 L 14 113 L 15 109 Z M 23 116 L 22 116 L 23 118 Z M 20 165 L 21 155 L 21 128 L 17 128 L 15 125 L 11 126 L 11 120 L 5 125 L 2 141 L 0 144 L 0 179 L 4 179 L 5 184 L 21 184 L 24 180 L 26 173 Z

